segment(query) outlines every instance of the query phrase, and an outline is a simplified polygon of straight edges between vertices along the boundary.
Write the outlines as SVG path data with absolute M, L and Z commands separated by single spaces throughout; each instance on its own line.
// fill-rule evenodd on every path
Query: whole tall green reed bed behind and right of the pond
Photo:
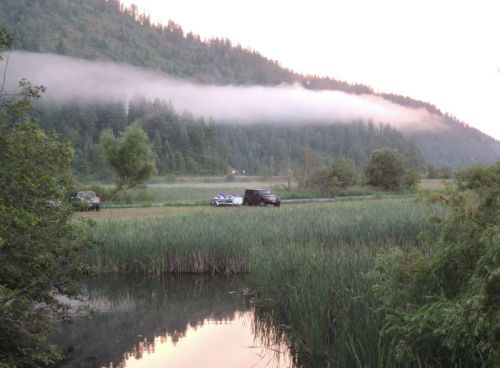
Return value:
M 286 341 L 297 366 L 396 366 L 374 265 L 390 248 L 418 247 L 428 211 L 408 198 L 188 207 L 98 221 L 87 257 L 102 273 L 247 274 L 256 329 Z

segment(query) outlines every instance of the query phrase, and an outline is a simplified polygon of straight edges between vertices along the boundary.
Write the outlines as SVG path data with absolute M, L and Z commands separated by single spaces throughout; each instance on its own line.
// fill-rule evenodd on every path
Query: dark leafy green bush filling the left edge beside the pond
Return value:
M 12 37 L 0 28 L 0 49 Z M 57 297 L 76 297 L 85 273 L 84 242 L 62 203 L 72 185 L 69 144 L 29 116 L 40 89 L 0 91 L 0 367 L 40 366 L 57 357 L 46 346 L 50 323 L 67 315 Z

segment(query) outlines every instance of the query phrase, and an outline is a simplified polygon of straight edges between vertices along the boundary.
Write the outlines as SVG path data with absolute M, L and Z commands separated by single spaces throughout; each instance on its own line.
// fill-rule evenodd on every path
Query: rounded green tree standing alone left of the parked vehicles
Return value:
M 101 146 L 117 176 L 117 187 L 135 188 L 156 174 L 155 157 L 149 139 L 138 123 L 115 137 L 111 130 L 101 135 Z

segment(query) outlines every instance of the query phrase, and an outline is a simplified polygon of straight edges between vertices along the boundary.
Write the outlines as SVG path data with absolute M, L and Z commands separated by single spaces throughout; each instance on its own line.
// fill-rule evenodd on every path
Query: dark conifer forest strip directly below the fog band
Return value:
M 307 160 L 328 164 L 335 155 L 363 164 L 374 148 L 415 150 L 412 141 L 390 126 L 362 122 L 322 127 L 222 125 L 178 114 L 169 103 L 136 98 L 122 102 L 39 103 L 42 127 L 69 139 L 76 151 L 75 170 L 81 179 L 109 179 L 99 146 L 104 129 L 122 132 L 139 121 L 148 134 L 160 174 L 225 174 L 228 168 L 248 174 L 278 175 L 291 167 L 301 170 Z

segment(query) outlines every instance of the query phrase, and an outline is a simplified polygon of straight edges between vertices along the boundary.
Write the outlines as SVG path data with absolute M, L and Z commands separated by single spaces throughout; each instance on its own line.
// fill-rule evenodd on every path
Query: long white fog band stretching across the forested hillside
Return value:
M 7 55 L 5 55 L 7 56 Z M 1 62 L 4 70 L 6 60 Z M 66 102 L 129 101 L 136 95 L 171 101 L 177 111 L 229 123 L 325 123 L 354 120 L 389 123 L 408 130 L 439 127 L 441 118 L 373 95 L 311 91 L 299 85 L 210 86 L 126 64 L 97 62 L 52 54 L 14 51 L 6 88 L 21 78 L 47 87 L 44 100 Z

